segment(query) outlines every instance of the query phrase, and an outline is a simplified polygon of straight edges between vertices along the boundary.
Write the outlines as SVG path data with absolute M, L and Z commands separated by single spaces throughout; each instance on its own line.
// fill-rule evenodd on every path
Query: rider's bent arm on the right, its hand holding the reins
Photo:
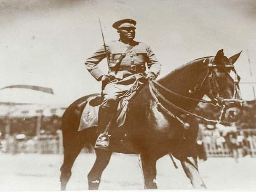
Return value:
M 152 49 L 147 46 L 147 63 L 149 70 L 148 72 L 152 72 L 156 75 L 156 77 L 160 74 L 161 71 L 161 63 L 156 59 L 155 53 L 152 51 Z

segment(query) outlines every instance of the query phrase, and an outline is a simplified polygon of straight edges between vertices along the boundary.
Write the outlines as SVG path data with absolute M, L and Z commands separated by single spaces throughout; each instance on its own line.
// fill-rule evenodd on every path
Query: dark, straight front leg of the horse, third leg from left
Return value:
M 156 189 L 156 158 L 150 154 L 142 153 L 140 155 L 140 163 L 144 176 L 144 188 Z

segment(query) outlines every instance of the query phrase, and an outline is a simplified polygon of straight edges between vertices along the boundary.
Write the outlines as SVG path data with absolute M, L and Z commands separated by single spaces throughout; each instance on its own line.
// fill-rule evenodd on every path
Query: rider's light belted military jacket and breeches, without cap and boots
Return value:
M 119 58 L 125 54 L 128 47 L 131 50 L 121 60 L 120 66 L 116 67 Z M 130 44 L 124 44 L 121 41 L 109 42 L 106 44 L 107 54 L 109 58 L 109 74 L 115 76 L 116 80 L 109 82 L 104 90 L 104 101 L 102 106 L 110 107 L 125 91 L 131 88 L 132 83 L 140 76 L 145 76 L 146 65 L 148 72 L 159 75 L 161 64 L 156 59 L 154 52 L 147 44 L 132 41 Z M 91 57 L 85 61 L 85 66 L 92 76 L 100 81 L 104 73 L 99 69 L 98 64 L 106 57 L 104 46 L 101 46 Z

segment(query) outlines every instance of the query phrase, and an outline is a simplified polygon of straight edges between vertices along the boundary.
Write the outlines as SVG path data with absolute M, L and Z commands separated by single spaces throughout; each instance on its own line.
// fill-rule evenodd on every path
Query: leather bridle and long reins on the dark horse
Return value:
M 180 95 L 179 93 L 173 92 L 172 90 L 164 87 L 163 85 L 159 84 L 155 80 L 149 80 L 148 81 L 149 82 L 149 91 L 150 91 L 152 97 L 154 98 L 154 100 L 156 102 L 157 108 L 162 108 L 168 115 L 170 115 L 173 118 L 175 118 L 176 120 L 178 120 L 183 125 L 183 127 L 186 128 L 186 129 L 188 129 L 189 124 L 183 122 L 183 120 L 181 120 L 180 117 L 174 115 L 171 111 L 169 111 L 167 108 L 165 108 L 164 105 L 157 99 L 157 96 L 159 98 L 161 98 L 165 102 L 165 104 L 167 104 L 168 106 L 171 106 L 172 108 L 175 108 L 175 109 L 177 109 L 177 110 L 179 110 L 179 111 L 181 111 L 183 113 L 195 116 L 197 118 L 203 119 L 204 121 L 207 121 L 207 122 L 210 122 L 210 123 L 215 123 L 215 124 L 224 123 L 221 120 L 222 120 L 222 117 L 224 115 L 224 112 L 226 111 L 226 107 L 227 107 L 228 104 L 232 104 L 232 105 L 240 104 L 241 105 L 244 102 L 244 100 L 240 99 L 241 98 L 241 93 L 240 93 L 240 89 L 239 89 L 239 85 L 238 85 L 239 80 L 238 80 L 238 75 L 236 73 L 234 65 L 225 64 L 225 65 L 221 66 L 221 68 L 223 68 L 226 71 L 226 73 L 228 73 L 227 70 L 232 70 L 235 73 L 235 79 L 233 79 L 233 82 L 234 82 L 234 94 L 233 94 L 233 97 L 232 97 L 232 99 L 222 99 L 221 98 L 220 89 L 219 89 L 218 84 L 217 84 L 217 80 L 213 78 L 213 69 L 217 68 L 217 65 L 216 64 L 212 64 L 210 62 L 210 60 L 207 59 L 207 58 L 204 60 L 204 62 L 205 61 L 209 62 L 208 66 L 207 66 L 208 70 L 207 70 L 206 76 L 204 77 L 203 81 L 200 83 L 200 85 L 198 87 L 196 87 L 196 89 L 197 89 L 197 91 L 200 91 L 202 89 L 203 85 L 205 84 L 206 80 L 208 80 L 208 84 L 209 84 L 209 97 L 211 98 L 211 100 L 204 100 L 204 99 L 198 100 L 198 99 L 195 99 L 195 98 L 191 98 L 191 97 L 187 97 L 187 96 L 184 96 L 184 95 Z M 229 75 L 229 73 L 228 73 L 228 75 Z M 166 92 L 172 94 L 172 95 L 176 95 L 176 96 L 179 96 L 181 98 L 185 98 L 185 99 L 193 100 L 193 101 L 197 101 L 197 102 L 210 103 L 210 104 L 212 104 L 214 106 L 220 107 L 219 119 L 218 120 L 207 119 L 205 117 L 196 115 L 196 114 L 194 114 L 192 112 L 189 112 L 189 111 L 187 111 L 187 110 L 185 110 L 183 108 L 178 107 L 177 105 L 173 104 L 171 101 L 167 100 L 158 91 L 158 89 L 156 88 L 155 85 L 158 86 L 159 88 L 165 90 Z M 238 96 L 238 98 L 237 98 L 237 96 Z

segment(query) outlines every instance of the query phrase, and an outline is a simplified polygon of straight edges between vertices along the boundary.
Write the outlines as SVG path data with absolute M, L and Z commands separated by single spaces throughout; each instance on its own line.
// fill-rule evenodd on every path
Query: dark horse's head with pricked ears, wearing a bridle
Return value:
M 221 107 L 220 120 L 235 122 L 241 112 L 242 102 L 239 81 L 234 63 L 241 52 L 228 58 L 223 50 L 208 60 L 208 87 L 207 95 Z

